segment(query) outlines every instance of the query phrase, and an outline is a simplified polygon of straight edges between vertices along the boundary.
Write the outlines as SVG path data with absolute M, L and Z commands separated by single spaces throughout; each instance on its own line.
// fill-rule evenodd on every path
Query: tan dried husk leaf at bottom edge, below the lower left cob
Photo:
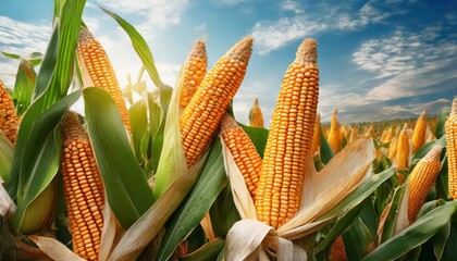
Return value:
M 50 237 L 28 236 L 48 257 L 53 260 L 84 261 L 76 253 L 72 252 L 65 245 Z

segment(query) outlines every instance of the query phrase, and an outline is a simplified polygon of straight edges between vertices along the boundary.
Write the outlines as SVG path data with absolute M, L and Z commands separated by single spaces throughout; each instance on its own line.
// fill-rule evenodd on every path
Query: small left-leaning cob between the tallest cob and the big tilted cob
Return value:
M 262 167 L 262 159 L 256 150 L 249 136 L 231 117 L 225 114 L 221 120 L 221 136 L 232 152 L 236 165 L 245 177 L 246 186 L 252 197 L 256 197 L 259 174 Z

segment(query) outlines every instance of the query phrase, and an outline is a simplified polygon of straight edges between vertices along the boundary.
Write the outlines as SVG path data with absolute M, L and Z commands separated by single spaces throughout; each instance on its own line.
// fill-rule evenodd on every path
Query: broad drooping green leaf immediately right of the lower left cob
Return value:
M 118 107 L 101 88 L 83 91 L 94 154 L 108 201 L 122 227 L 128 228 L 153 203 L 152 191 L 138 164 Z

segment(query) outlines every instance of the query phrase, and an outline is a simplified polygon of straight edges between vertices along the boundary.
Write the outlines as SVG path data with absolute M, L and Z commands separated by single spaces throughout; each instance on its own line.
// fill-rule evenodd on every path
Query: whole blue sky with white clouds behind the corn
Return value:
M 0 0 L 0 50 L 44 52 L 52 2 Z M 370 0 L 99 0 L 132 23 L 150 46 L 161 77 L 173 86 L 194 40 L 205 37 L 209 66 L 248 34 L 255 40 L 234 98 L 247 123 L 259 97 L 269 122 L 282 77 L 304 38 L 319 42 L 318 111 L 329 121 L 380 121 L 436 113 L 457 96 L 457 1 Z M 116 23 L 88 0 L 84 20 L 106 48 L 121 85 L 140 62 Z M 13 86 L 17 64 L 0 57 L 0 77 Z M 149 87 L 152 84 L 149 82 Z

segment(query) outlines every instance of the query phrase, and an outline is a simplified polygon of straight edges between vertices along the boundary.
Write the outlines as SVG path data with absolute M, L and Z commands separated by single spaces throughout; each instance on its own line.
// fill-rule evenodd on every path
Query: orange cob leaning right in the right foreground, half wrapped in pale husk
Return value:
M 425 201 L 427 194 L 435 184 L 441 170 L 440 156 L 442 150 L 442 147 L 434 146 L 429 153 L 427 153 L 427 156 L 418 162 L 409 175 L 409 223 L 413 223 L 416 221 L 416 216 Z

